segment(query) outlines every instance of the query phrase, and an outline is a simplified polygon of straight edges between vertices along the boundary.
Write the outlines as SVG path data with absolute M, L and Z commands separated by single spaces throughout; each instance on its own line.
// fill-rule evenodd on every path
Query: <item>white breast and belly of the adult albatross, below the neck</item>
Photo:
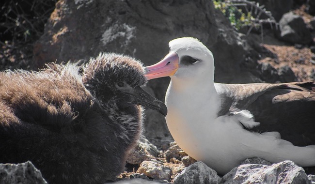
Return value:
M 168 90 L 165 102 L 167 126 L 177 144 L 220 174 L 252 157 L 273 163 L 292 160 L 300 166 L 315 166 L 314 146 L 297 147 L 279 139 L 277 133 L 244 130 L 234 116 L 216 117 L 214 107 L 219 105 L 214 100 L 180 99 Z

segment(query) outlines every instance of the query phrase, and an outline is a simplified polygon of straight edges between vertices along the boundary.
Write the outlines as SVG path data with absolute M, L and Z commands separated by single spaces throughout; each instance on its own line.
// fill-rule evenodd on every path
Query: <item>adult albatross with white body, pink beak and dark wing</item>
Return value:
M 220 174 L 251 157 L 315 166 L 314 82 L 214 83 L 213 55 L 199 40 L 169 46 L 146 77 L 171 77 L 166 122 L 186 153 Z

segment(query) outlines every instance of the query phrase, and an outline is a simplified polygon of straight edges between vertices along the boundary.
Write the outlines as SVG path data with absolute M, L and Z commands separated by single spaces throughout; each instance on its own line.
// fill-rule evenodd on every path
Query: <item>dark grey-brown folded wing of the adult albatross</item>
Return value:
M 218 115 L 246 110 L 259 125 L 245 125 L 245 129 L 279 132 L 296 146 L 315 144 L 314 82 L 215 85 L 222 99 Z

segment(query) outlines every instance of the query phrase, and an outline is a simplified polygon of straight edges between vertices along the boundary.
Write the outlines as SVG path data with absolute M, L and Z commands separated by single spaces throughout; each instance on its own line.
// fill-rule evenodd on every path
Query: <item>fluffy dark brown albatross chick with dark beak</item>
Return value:
M 115 180 L 141 134 L 142 106 L 167 112 L 139 87 L 143 74 L 142 63 L 113 53 L 82 75 L 71 63 L 1 72 L 0 163 L 30 160 L 49 184 Z

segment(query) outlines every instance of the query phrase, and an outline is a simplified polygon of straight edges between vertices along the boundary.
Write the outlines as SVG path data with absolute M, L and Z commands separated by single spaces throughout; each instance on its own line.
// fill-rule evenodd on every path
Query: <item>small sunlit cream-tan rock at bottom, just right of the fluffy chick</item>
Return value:
M 172 175 L 172 169 L 164 166 L 158 161 L 143 161 L 140 164 L 137 173 L 143 173 L 146 176 L 157 179 L 157 180 L 167 180 L 170 181 Z

